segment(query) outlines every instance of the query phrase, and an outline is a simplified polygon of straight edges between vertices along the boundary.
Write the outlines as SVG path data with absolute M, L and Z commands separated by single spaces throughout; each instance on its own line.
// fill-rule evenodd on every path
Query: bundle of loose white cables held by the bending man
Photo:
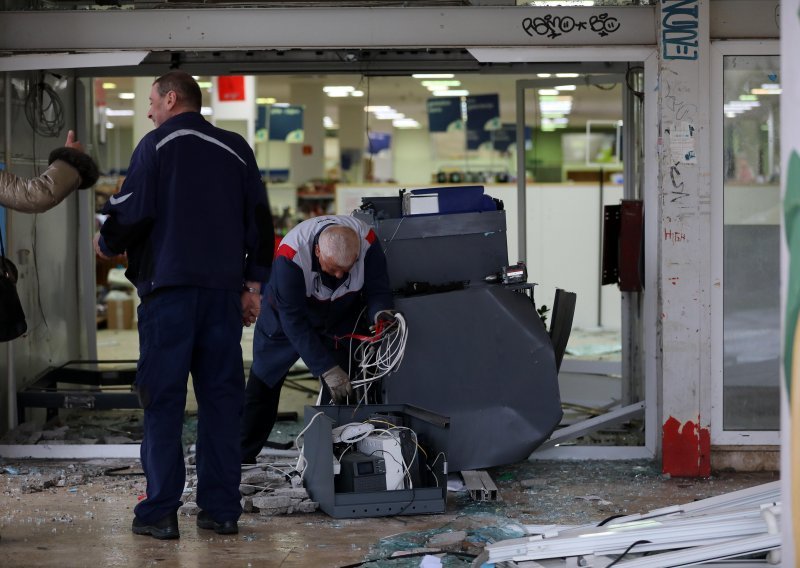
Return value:
M 363 340 L 354 353 L 362 378 L 352 381 L 354 387 L 367 385 L 400 367 L 408 340 L 408 326 L 403 314 L 379 331 L 379 336 Z

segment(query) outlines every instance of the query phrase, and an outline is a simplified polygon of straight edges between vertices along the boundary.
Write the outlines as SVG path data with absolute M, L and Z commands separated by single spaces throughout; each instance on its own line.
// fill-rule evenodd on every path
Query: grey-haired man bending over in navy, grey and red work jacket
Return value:
M 355 217 L 303 221 L 283 238 L 253 337 L 242 419 L 242 460 L 255 463 L 278 414 L 280 391 L 302 358 L 336 403 L 352 400 L 349 350 L 338 338 L 367 321 L 393 320 L 394 304 L 375 232 Z

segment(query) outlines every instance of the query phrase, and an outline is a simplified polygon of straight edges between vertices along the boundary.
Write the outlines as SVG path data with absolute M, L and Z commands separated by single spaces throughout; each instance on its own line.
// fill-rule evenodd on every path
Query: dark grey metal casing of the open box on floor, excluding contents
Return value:
M 393 491 L 336 491 L 332 431 L 337 426 L 364 422 L 373 417 L 388 417 L 402 422 L 416 433 L 420 446 L 427 453 L 427 457 L 420 453 L 419 459 L 425 459 L 432 470 L 429 482 Z M 306 406 L 305 424 L 303 456 L 307 465 L 303 474 L 304 484 L 311 498 L 331 517 L 386 517 L 445 511 L 449 418 L 407 404 Z

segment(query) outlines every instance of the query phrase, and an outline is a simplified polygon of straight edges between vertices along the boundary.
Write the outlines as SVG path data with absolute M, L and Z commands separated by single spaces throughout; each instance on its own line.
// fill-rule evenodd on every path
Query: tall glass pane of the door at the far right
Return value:
M 723 67 L 723 428 L 779 429 L 780 59 Z

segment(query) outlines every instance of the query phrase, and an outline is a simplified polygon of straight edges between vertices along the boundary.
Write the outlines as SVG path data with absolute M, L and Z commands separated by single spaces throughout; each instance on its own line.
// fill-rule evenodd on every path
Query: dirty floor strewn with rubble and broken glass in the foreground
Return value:
M 444 566 L 468 566 L 487 542 L 520 536 L 524 524 L 585 524 L 686 503 L 778 479 L 720 472 L 708 479 L 662 475 L 656 462 L 526 461 L 488 470 L 499 501 L 448 494 L 437 515 L 333 519 L 316 511 L 244 514 L 240 533 L 221 537 L 181 517 L 181 539 L 130 532 L 144 493 L 135 460 L 0 459 L 2 566 L 419 566 L 398 551 L 445 551 Z M 442 535 L 463 538 L 442 542 Z M 438 543 L 438 544 L 437 544 Z

